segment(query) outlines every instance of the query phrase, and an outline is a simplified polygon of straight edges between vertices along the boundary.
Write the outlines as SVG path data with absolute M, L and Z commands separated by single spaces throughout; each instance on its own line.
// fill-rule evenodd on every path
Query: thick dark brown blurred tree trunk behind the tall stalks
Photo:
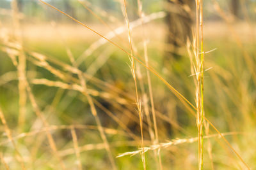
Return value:
M 177 48 L 186 45 L 188 38 L 191 38 L 191 27 L 193 19 L 191 11 L 194 1 L 191 0 L 167 0 L 166 24 L 168 26 L 166 57 L 179 58 Z

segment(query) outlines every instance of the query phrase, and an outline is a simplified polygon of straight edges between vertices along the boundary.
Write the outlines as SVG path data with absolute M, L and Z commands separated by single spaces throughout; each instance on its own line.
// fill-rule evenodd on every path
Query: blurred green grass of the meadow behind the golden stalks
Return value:
M 195 75 L 191 75 L 191 63 L 189 61 L 188 51 L 185 47 L 182 47 L 178 50 L 181 56 L 180 59 L 166 58 L 163 43 L 160 43 L 166 41 L 163 36 L 165 30 L 162 22 L 163 20 L 160 20 L 157 23 L 149 25 L 153 28 L 156 27 L 156 31 L 163 31 L 161 32 L 162 36 L 147 32 L 150 66 L 195 106 L 195 83 L 193 81 L 193 76 Z M 227 29 L 225 26 L 223 26 L 225 29 L 222 28 L 219 30 L 220 36 L 212 36 L 210 28 L 214 27 L 216 23 L 210 24 L 212 25 L 205 29 L 204 49 L 205 52 L 214 48 L 216 50 L 205 53 L 205 117 L 220 132 L 235 132 L 235 134 L 227 135 L 225 138 L 227 138 L 234 150 L 239 153 L 244 162 L 253 169 L 255 168 L 254 162 L 256 161 L 254 154 L 256 143 L 253 140 L 253 132 L 255 131 L 256 88 L 252 80 L 250 67 L 246 65 L 244 60 L 243 51 L 248 52 L 252 56 L 253 63 L 255 64 L 255 57 L 253 57 L 256 54 L 254 49 L 255 42 L 246 39 L 248 34 L 244 31 L 243 34 L 239 34 L 239 37 L 243 40 L 243 47 L 240 48 L 237 46 L 234 38 L 232 38 L 232 34 L 223 34 Z M 147 25 L 145 28 L 149 29 L 149 26 Z M 109 162 L 108 154 L 102 144 L 102 136 L 100 136 L 98 129 L 99 125 L 96 124 L 95 117 L 92 114 L 92 104 L 88 104 L 88 96 L 84 94 L 84 88 L 81 88 L 83 87 L 83 83 L 79 81 L 79 74 L 67 71 L 67 66 L 61 67 L 51 61 L 51 59 L 54 59 L 61 62 L 61 64 L 72 66 L 68 58 L 67 46 L 70 48 L 74 58 L 77 59 L 97 39 L 95 38 L 96 35 L 93 38 L 84 38 L 85 36 L 82 36 L 83 31 L 81 32 L 79 30 L 76 32 L 76 29 L 77 27 L 74 27 L 74 32 L 63 34 L 64 41 L 61 40 L 60 36 L 54 36 L 52 39 L 24 38 L 24 49 L 27 57 L 26 78 L 32 88 L 32 94 L 35 96 L 39 110 L 52 128 L 52 137 L 56 143 L 58 152 L 60 155 L 63 154 L 61 159 L 65 162 L 67 169 L 74 169 L 77 160 L 81 161 L 84 169 L 112 169 L 113 167 L 111 167 Z M 97 29 L 100 30 L 102 28 Z M 56 30 L 52 29 L 52 32 L 54 31 Z M 143 56 L 141 30 L 134 29 L 133 31 L 138 36 L 134 36 L 133 46 L 136 46 L 138 53 Z M 106 32 L 106 30 L 102 30 L 102 32 Z M 70 34 L 74 34 L 75 38 L 70 38 Z M 86 32 L 87 34 L 88 32 Z M 81 38 L 77 38 L 79 35 L 81 35 Z M 126 40 L 126 36 L 124 34 L 122 38 Z M 118 45 L 124 46 L 120 42 L 120 39 L 114 39 L 113 41 L 118 43 Z M 22 134 L 23 136 L 19 139 L 15 138 L 15 145 L 17 145 L 19 152 L 24 158 L 25 166 L 27 169 L 60 169 L 58 159 L 52 153 L 47 141 L 42 120 L 35 115 L 35 110 L 31 106 L 29 98 L 25 106 L 26 123 L 22 129 L 18 125 L 20 106 L 19 79 L 16 74 L 17 68 L 13 66 L 12 60 L 4 52 L 3 47 L 5 45 L 1 43 L 0 47 L 1 50 L 3 49 L 3 52 L 0 51 L 0 108 L 3 111 L 8 127 L 12 129 L 13 137 L 19 137 L 22 132 L 26 133 Z M 129 49 L 128 47 L 124 46 L 125 50 Z M 12 46 L 10 48 L 16 49 Z M 36 57 L 31 55 L 31 52 L 41 53 L 48 57 L 49 60 L 36 59 Z M 138 57 L 136 52 L 134 53 L 134 56 Z M 108 57 L 108 60 L 93 75 L 98 80 L 92 79 L 86 83 L 89 89 L 88 92 L 93 100 L 98 101 L 104 108 L 111 112 L 106 113 L 106 111 L 103 111 L 95 104 L 97 115 L 99 115 L 100 123 L 104 127 L 104 132 L 111 148 L 111 155 L 118 169 L 143 169 L 140 153 L 132 157 L 124 156 L 116 158 L 119 153 L 136 151 L 141 146 L 141 129 L 138 108 L 135 103 L 134 80 L 129 68 L 131 65 L 129 57 L 127 53 L 122 52 L 122 50 L 111 45 L 111 43 L 107 43 L 106 45 L 100 46 L 92 55 L 88 56 L 78 69 L 83 73 L 87 73 L 86 71 L 88 71 L 98 57 Z M 42 64 L 41 62 L 43 66 L 36 66 L 36 64 Z M 45 63 L 46 65 L 44 65 Z M 52 68 L 49 69 L 47 64 L 52 66 Z M 136 69 L 138 69 L 137 65 Z M 148 95 L 146 69 L 142 66 L 140 69 L 142 75 L 141 80 L 143 80 L 145 92 Z M 72 71 L 74 70 L 75 66 L 72 67 Z M 54 73 L 54 71 L 59 71 L 59 74 L 63 74 L 63 78 L 58 77 L 59 74 Z M 3 75 L 9 73 L 13 76 L 13 79 L 4 82 Z M 160 157 L 164 167 L 163 169 L 170 169 L 170 167 L 172 169 L 197 169 L 198 141 L 193 141 L 193 143 L 189 143 L 188 141 L 181 142 L 181 139 L 195 138 L 198 136 L 196 118 L 184 106 L 184 103 L 164 85 L 159 77 L 152 73 L 150 73 L 150 76 L 152 79 L 154 104 L 157 111 L 159 142 L 168 143 L 173 139 L 176 142 L 178 141 L 177 145 L 161 148 Z M 10 78 L 11 76 L 7 77 Z M 88 78 L 86 76 L 84 77 L 85 79 Z M 35 83 L 37 79 L 42 80 L 43 78 L 59 83 L 57 85 L 58 87 L 52 87 L 49 81 L 40 85 Z M 63 87 L 68 87 L 69 89 L 63 89 Z M 77 87 L 80 88 L 78 88 L 80 91 L 77 90 Z M 141 89 L 139 85 L 138 87 L 141 99 Z M 93 102 L 95 103 L 95 101 Z M 149 98 L 148 106 L 150 106 Z M 144 114 L 143 139 L 145 146 L 150 147 L 153 143 L 150 141 L 144 107 L 142 107 L 142 113 Z M 111 114 L 113 114 L 112 117 L 109 117 Z M 114 116 L 116 119 L 113 118 Z M 76 156 L 76 146 L 74 146 L 74 136 L 71 134 L 70 125 L 77 125 L 75 128 L 77 142 L 82 147 L 78 158 Z M 127 132 L 125 132 L 124 126 L 134 136 L 137 136 L 139 140 L 134 141 L 129 136 L 127 129 Z M 19 159 L 15 159 L 17 150 L 13 148 L 12 143 L 8 142 L 4 125 L 0 127 L 0 150 L 2 151 L 3 158 L 10 169 L 19 169 Z M 31 132 L 33 133 L 31 134 Z M 218 133 L 210 127 L 209 134 Z M 204 136 L 207 138 L 205 132 Z M 209 146 L 209 141 L 211 141 L 211 147 Z M 212 153 L 213 157 L 212 162 L 208 152 L 209 148 L 211 148 L 210 153 Z M 152 150 L 153 148 L 150 148 L 145 153 L 147 169 L 157 169 L 158 163 Z M 204 139 L 204 169 L 211 169 L 212 163 L 214 164 L 214 169 L 245 168 L 243 163 L 230 150 L 227 143 L 222 138 L 216 136 Z M 0 164 L 0 169 L 4 169 L 4 164 Z

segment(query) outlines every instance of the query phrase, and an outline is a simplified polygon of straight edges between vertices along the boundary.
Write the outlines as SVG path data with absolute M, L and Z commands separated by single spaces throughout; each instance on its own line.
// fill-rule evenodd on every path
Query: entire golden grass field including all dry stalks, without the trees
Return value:
M 22 27 L 22 14 L 12 1 L 13 27 L 0 24 L 0 50 L 12 69 L 0 75 L 0 86 L 7 89 L 1 89 L 4 96 L 17 93 L 18 102 L 12 108 L 12 97 L 10 102 L 0 100 L 1 169 L 255 168 L 256 73 L 248 48 L 254 41 L 246 39 L 251 35 L 246 30 L 253 30 L 249 17 L 240 24 L 243 29 L 237 29 L 232 16 L 212 1 L 227 26 L 205 24 L 203 1 L 196 0 L 193 39 L 177 50 L 188 57 L 170 60 L 164 67 L 159 58 L 173 46 L 164 43 L 166 25 L 150 22 L 164 18 L 165 12 L 145 15 L 143 1 L 138 0 L 138 19 L 130 22 L 131 3 L 124 0 L 118 2 L 124 19 L 117 22 L 93 3 L 77 2 L 99 21 L 95 25 L 39 1 L 78 25 Z M 221 28 L 212 30 L 217 26 Z M 209 43 L 225 38 L 240 55 L 231 57 L 228 45 L 218 52 Z M 51 46 L 54 41 L 60 41 L 68 60 L 33 46 Z M 86 41 L 87 47 L 75 55 L 68 41 Z M 137 154 L 142 161 L 124 157 Z M 221 159 L 223 155 L 228 156 Z

